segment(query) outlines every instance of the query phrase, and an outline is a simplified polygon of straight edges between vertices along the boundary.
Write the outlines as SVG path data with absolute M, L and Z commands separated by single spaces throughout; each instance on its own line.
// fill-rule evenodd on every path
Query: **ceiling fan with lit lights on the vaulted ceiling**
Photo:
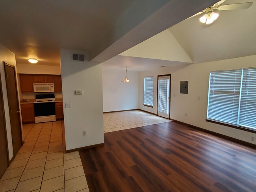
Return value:
M 225 11 L 225 10 L 233 10 L 233 9 L 248 9 L 250 6 L 252 6 L 252 3 L 253 3 L 253 2 L 246 2 L 246 3 L 221 5 L 224 1 L 226 0 L 221 0 L 191 17 L 195 17 L 196 15 L 200 15 L 206 12 L 202 17 L 200 17 L 199 20 L 202 23 L 211 24 L 213 21 L 215 21 L 219 17 L 219 14 L 214 13 L 213 10 L 217 9 L 218 11 Z

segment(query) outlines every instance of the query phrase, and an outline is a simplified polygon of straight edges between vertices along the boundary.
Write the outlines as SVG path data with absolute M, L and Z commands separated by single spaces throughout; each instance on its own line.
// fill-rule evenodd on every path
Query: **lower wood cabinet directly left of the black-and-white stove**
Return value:
M 35 113 L 34 113 L 34 104 L 20 104 L 21 107 L 21 116 L 22 123 L 34 123 L 35 122 Z

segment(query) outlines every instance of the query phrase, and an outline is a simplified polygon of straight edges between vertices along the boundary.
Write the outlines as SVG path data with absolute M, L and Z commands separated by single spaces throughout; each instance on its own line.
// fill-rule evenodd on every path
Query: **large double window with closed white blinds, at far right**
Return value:
M 210 72 L 207 118 L 256 129 L 256 68 Z

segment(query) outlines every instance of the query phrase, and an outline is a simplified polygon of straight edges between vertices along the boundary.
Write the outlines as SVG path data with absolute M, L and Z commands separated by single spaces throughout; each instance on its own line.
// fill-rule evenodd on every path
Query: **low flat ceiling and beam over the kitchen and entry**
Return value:
M 17 64 L 59 65 L 59 49 L 89 51 L 104 62 L 217 0 L 0 1 L 0 44 Z

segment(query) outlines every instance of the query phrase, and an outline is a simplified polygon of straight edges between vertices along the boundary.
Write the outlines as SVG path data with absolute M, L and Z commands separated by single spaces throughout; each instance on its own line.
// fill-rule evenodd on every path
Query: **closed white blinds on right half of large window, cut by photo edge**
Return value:
M 256 128 L 256 68 L 243 70 L 239 125 Z

